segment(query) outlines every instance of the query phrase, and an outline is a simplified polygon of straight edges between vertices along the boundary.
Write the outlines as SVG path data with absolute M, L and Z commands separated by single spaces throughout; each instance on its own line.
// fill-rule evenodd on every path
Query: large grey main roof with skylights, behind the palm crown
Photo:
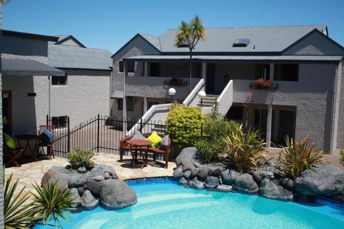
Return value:
M 314 29 L 327 34 L 326 25 L 209 28 L 206 29 L 208 39 L 200 41 L 194 52 L 281 52 Z M 160 37 L 140 35 L 160 52 L 189 52 L 186 47 L 175 47 L 177 32 L 167 30 Z M 250 43 L 247 47 L 233 47 L 237 39 L 250 39 Z

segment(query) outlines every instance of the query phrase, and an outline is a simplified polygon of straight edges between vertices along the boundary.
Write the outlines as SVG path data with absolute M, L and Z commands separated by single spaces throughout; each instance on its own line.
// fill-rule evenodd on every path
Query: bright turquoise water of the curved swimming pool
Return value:
M 121 210 L 95 208 L 62 220 L 63 228 L 344 228 L 344 206 L 319 200 L 297 204 L 255 195 L 179 186 L 169 179 L 129 181 L 138 204 Z M 36 226 L 35 228 L 50 228 Z

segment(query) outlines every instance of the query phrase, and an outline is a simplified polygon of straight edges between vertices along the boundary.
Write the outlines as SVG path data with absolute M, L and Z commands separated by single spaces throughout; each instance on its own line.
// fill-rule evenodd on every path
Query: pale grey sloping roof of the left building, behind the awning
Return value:
M 49 65 L 61 68 L 107 69 L 112 66 L 111 52 L 69 45 L 48 46 Z

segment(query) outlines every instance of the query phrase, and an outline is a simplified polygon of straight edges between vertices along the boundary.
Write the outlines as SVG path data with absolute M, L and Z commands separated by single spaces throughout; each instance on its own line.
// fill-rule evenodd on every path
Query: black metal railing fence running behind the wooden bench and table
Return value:
M 157 133 L 167 134 L 168 126 L 166 122 L 142 120 L 126 120 L 125 118 L 95 116 L 86 122 L 80 123 L 73 129 L 70 128 L 69 117 L 65 120 L 56 120 L 47 116 L 47 125 L 57 125 L 60 128 L 54 129 L 56 138 L 54 138 L 54 153 L 59 157 L 66 157 L 67 153 L 73 147 L 92 150 L 95 152 L 119 154 L 120 140 L 127 135 L 131 135 L 139 131 L 147 133 L 156 131 Z M 127 127 L 127 131 L 123 131 L 123 125 Z M 170 126 L 171 129 L 171 126 Z M 191 126 L 175 126 L 178 129 L 179 138 L 198 138 L 202 136 L 202 125 L 196 127 Z M 173 138 L 171 136 L 171 138 Z

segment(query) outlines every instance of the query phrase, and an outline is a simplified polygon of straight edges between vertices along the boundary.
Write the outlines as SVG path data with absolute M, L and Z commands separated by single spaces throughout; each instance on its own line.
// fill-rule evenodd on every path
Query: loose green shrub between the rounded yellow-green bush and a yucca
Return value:
M 224 120 L 224 116 L 219 113 L 218 104 L 215 102 L 211 113 L 206 115 L 202 139 L 195 142 L 201 159 L 206 163 L 219 160 L 226 148 L 224 136 L 237 132 L 239 127 L 237 122 Z

